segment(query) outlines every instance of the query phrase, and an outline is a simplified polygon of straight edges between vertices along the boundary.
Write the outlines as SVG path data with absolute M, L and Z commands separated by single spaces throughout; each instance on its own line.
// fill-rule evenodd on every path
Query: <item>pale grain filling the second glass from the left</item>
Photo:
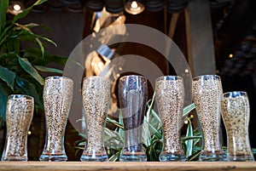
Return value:
M 47 142 L 44 155 L 65 153 L 63 137 L 73 100 L 73 81 L 67 77 L 49 77 L 44 84 L 44 115 Z

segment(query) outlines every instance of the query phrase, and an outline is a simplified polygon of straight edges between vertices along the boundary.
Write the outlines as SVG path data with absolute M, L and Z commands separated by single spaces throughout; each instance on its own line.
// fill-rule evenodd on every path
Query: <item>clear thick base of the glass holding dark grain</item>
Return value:
M 122 152 L 120 162 L 147 162 L 144 152 Z

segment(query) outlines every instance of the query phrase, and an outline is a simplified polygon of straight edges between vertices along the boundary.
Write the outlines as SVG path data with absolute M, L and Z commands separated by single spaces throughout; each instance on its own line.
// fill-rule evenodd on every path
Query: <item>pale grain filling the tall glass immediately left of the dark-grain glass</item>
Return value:
M 108 79 L 86 77 L 83 83 L 82 97 L 87 128 L 87 145 L 83 155 L 106 155 L 103 149 L 103 128 L 107 117 L 110 100 Z

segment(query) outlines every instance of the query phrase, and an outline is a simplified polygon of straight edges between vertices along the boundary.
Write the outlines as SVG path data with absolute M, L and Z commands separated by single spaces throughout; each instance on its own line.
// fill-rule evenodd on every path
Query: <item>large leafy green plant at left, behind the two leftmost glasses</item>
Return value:
M 64 66 L 67 58 L 52 55 L 44 50 L 45 43 L 56 44 L 47 37 L 32 31 L 35 23 L 22 25 L 18 20 L 26 17 L 36 5 L 44 3 L 38 0 L 23 12 L 7 20 L 9 0 L 0 1 L 0 117 L 3 123 L 5 105 L 9 94 L 28 94 L 35 100 L 35 111 L 43 111 L 42 72 L 61 74 L 62 71 L 47 67 L 49 62 Z M 24 48 L 26 42 L 29 46 Z

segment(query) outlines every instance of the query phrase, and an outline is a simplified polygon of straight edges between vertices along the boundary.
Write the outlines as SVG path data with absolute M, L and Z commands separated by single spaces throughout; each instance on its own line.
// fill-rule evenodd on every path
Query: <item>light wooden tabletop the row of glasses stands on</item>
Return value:
M 0 162 L 12 171 L 256 171 L 256 162 Z

